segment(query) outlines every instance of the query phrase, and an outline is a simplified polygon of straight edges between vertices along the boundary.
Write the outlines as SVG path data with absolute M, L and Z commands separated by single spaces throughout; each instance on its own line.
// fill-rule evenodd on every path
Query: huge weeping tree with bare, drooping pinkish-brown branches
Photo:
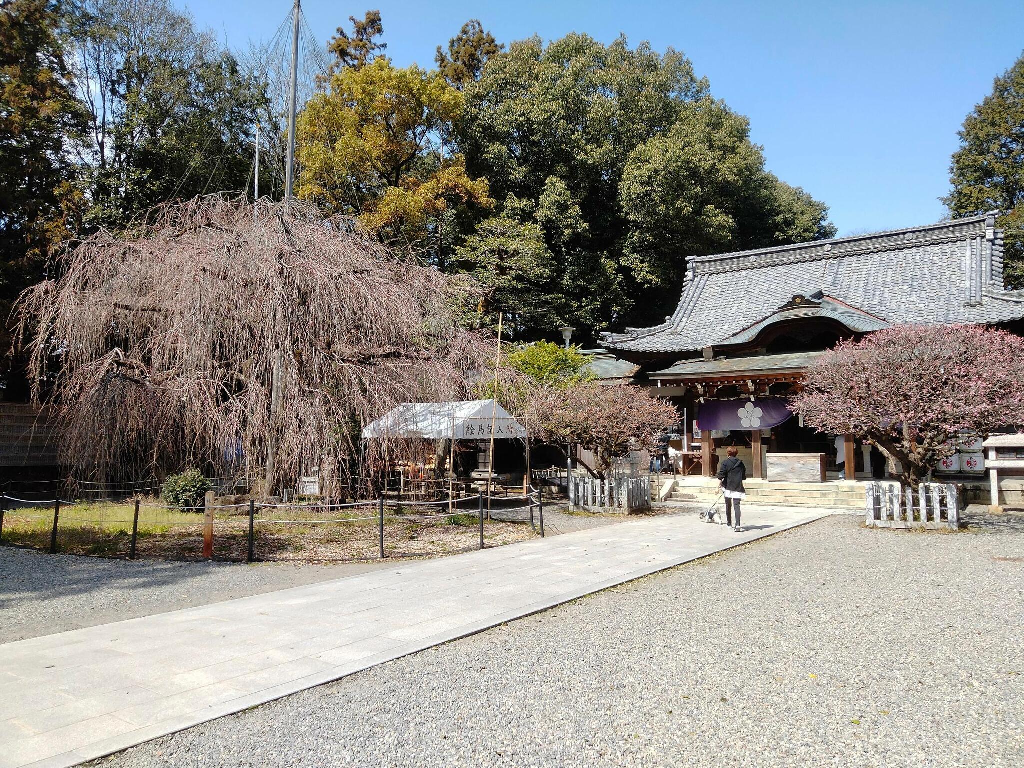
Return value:
M 371 476 L 396 445 L 360 450 L 362 425 L 400 402 L 472 396 L 489 340 L 458 317 L 475 291 L 303 204 L 261 202 L 254 217 L 209 197 L 70 247 L 17 311 L 35 395 L 57 406 L 76 473 L 230 471 L 239 457 L 256 470 L 272 445 L 282 487 L 325 459 Z

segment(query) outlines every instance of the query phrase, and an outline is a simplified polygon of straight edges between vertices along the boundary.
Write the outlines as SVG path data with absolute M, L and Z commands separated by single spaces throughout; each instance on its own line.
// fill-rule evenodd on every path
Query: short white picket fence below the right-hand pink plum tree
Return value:
M 896 482 L 871 482 L 865 493 L 866 522 L 872 527 L 959 527 L 959 492 L 952 483 L 923 482 L 914 493 Z

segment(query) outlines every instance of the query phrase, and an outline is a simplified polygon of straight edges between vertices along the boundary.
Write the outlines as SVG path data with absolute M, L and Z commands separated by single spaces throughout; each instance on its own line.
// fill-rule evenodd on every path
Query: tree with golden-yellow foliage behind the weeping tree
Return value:
M 462 109 L 462 93 L 416 65 L 343 68 L 299 117 L 296 195 L 442 265 L 445 223 L 493 203 L 446 140 Z

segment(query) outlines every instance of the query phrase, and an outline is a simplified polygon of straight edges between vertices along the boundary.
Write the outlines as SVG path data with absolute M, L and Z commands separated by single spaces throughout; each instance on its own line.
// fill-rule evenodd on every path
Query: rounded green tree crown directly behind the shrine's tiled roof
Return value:
M 688 256 L 835 234 L 824 205 L 765 170 L 746 118 L 710 97 L 630 153 L 618 203 L 621 264 L 663 306 L 678 299 Z

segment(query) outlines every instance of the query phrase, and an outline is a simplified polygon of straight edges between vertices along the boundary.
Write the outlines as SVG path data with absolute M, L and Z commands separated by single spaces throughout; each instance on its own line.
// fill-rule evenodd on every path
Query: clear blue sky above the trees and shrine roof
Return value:
M 268 40 L 291 0 L 175 0 L 245 47 Z M 964 118 L 1024 52 L 1024 2 L 610 2 L 303 0 L 324 42 L 349 15 L 380 8 L 387 53 L 432 66 L 434 50 L 479 18 L 500 42 L 583 32 L 669 46 L 713 94 L 751 119 L 768 168 L 830 208 L 840 233 L 940 219 Z

